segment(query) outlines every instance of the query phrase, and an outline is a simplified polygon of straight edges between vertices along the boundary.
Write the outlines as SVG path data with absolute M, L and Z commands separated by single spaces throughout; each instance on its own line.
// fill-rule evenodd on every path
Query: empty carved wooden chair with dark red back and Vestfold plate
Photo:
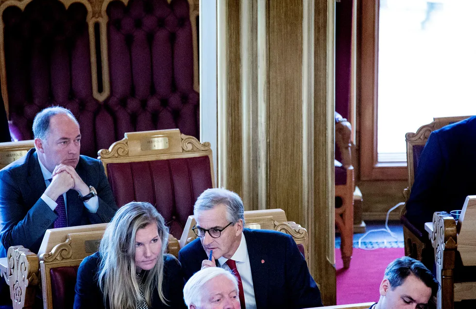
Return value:
M 198 196 L 214 186 L 210 143 L 178 129 L 124 136 L 98 153 L 116 204 L 151 203 L 179 239 Z

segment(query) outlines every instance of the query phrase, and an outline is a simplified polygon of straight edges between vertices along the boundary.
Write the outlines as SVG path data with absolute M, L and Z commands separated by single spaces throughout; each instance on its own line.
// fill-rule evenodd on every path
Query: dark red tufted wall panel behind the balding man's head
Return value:
M 17 135 L 32 139 L 35 114 L 64 106 L 80 123 L 82 153 L 96 156 L 94 114 L 101 106 L 92 96 L 86 16 L 80 3 L 66 10 L 59 1 L 34 0 L 24 12 L 6 8 L 2 20 L 10 120 Z

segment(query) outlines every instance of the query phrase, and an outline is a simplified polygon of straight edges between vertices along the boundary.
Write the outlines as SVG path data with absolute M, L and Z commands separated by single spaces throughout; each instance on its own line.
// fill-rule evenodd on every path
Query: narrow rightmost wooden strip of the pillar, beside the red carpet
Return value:
M 310 233 L 311 273 L 321 285 L 324 306 L 336 304 L 334 267 L 334 1 L 314 9 L 314 213 Z M 323 237 L 324 241 L 317 238 Z

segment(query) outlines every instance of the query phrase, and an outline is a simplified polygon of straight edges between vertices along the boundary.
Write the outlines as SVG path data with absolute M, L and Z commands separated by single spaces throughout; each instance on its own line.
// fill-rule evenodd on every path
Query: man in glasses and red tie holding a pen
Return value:
M 241 308 L 309 308 L 322 305 L 306 260 L 288 234 L 243 228 L 243 202 L 223 188 L 205 190 L 193 209 L 198 239 L 179 252 L 185 280 L 219 266 L 238 277 Z M 211 260 L 208 260 L 210 251 Z

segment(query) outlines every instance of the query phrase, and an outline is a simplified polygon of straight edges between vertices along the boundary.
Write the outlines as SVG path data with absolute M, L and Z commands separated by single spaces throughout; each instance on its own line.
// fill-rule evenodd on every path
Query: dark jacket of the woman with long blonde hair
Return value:
M 104 306 L 103 295 L 98 285 L 98 265 L 101 261 L 99 252 L 86 257 L 79 265 L 76 286 L 74 288 L 74 309 L 103 309 L 109 308 L 109 302 Z M 171 257 L 164 256 L 164 279 L 162 291 L 170 307 L 164 305 L 157 290 L 152 295 L 152 308 L 186 308 L 184 302 L 184 280 L 179 262 Z

